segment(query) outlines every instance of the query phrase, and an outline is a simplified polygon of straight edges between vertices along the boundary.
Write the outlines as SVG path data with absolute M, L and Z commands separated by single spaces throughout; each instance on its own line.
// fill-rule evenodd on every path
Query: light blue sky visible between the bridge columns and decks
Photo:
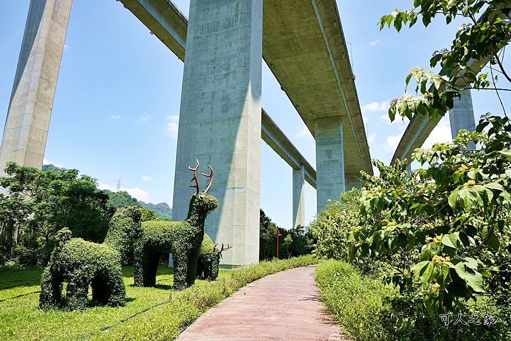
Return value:
M 174 0 L 188 16 L 189 1 Z M 0 1 L 0 112 L 7 114 L 29 0 Z M 338 0 L 363 110 L 371 157 L 390 162 L 406 124 L 390 121 L 389 102 L 404 94 L 408 70 L 428 69 L 435 50 L 448 48 L 462 20 L 443 18 L 401 33 L 378 19 L 411 0 Z M 45 160 L 76 168 L 114 189 L 118 178 L 132 196 L 172 206 L 183 63 L 114 0 L 74 0 L 53 104 Z M 473 92 L 476 122 L 501 111 L 493 92 Z M 280 85 L 263 63 L 263 107 L 315 165 L 315 143 Z M 509 96 L 504 97 L 504 102 Z M 500 109 L 499 109 L 500 108 Z M 0 120 L 4 122 L 4 120 Z M 2 125 L 3 131 L 3 125 Z M 451 140 L 448 117 L 424 147 Z M 261 208 L 280 227 L 292 224 L 292 170 L 266 143 L 261 155 Z M 316 191 L 306 185 L 306 220 Z

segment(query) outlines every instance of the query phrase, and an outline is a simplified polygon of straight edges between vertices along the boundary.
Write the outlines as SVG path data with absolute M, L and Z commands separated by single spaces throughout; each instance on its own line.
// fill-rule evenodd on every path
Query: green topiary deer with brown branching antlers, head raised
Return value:
M 213 169 L 207 165 L 211 174 L 210 182 L 203 192 L 199 192 L 197 167 L 190 185 L 197 193 L 190 198 L 188 216 L 183 221 L 145 221 L 142 223 L 143 233 L 134 245 L 134 285 L 154 286 L 158 262 L 163 253 L 171 253 L 174 261 L 174 289 L 181 290 L 195 283 L 199 249 L 204 238 L 204 221 L 211 211 L 218 207 L 217 199 L 207 194 L 213 183 Z

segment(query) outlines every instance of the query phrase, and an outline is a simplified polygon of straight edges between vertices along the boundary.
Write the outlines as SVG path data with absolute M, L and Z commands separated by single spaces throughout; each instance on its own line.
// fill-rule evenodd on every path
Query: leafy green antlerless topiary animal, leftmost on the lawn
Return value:
M 72 233 L 67 228 L 60 230 L 50 264 L 41 276 L 39 307 L 84 310 L 89 286 L 92 300 L 97 303 L 124 306 L 126 288 L 121 273 L 122 260 L 129 245 L 142 233 L 140 217 L 138 207 L 118 209 L 102 244 L 71 238 Z M 62 293 L 64 281 L 67 281 L 65 295 Z

